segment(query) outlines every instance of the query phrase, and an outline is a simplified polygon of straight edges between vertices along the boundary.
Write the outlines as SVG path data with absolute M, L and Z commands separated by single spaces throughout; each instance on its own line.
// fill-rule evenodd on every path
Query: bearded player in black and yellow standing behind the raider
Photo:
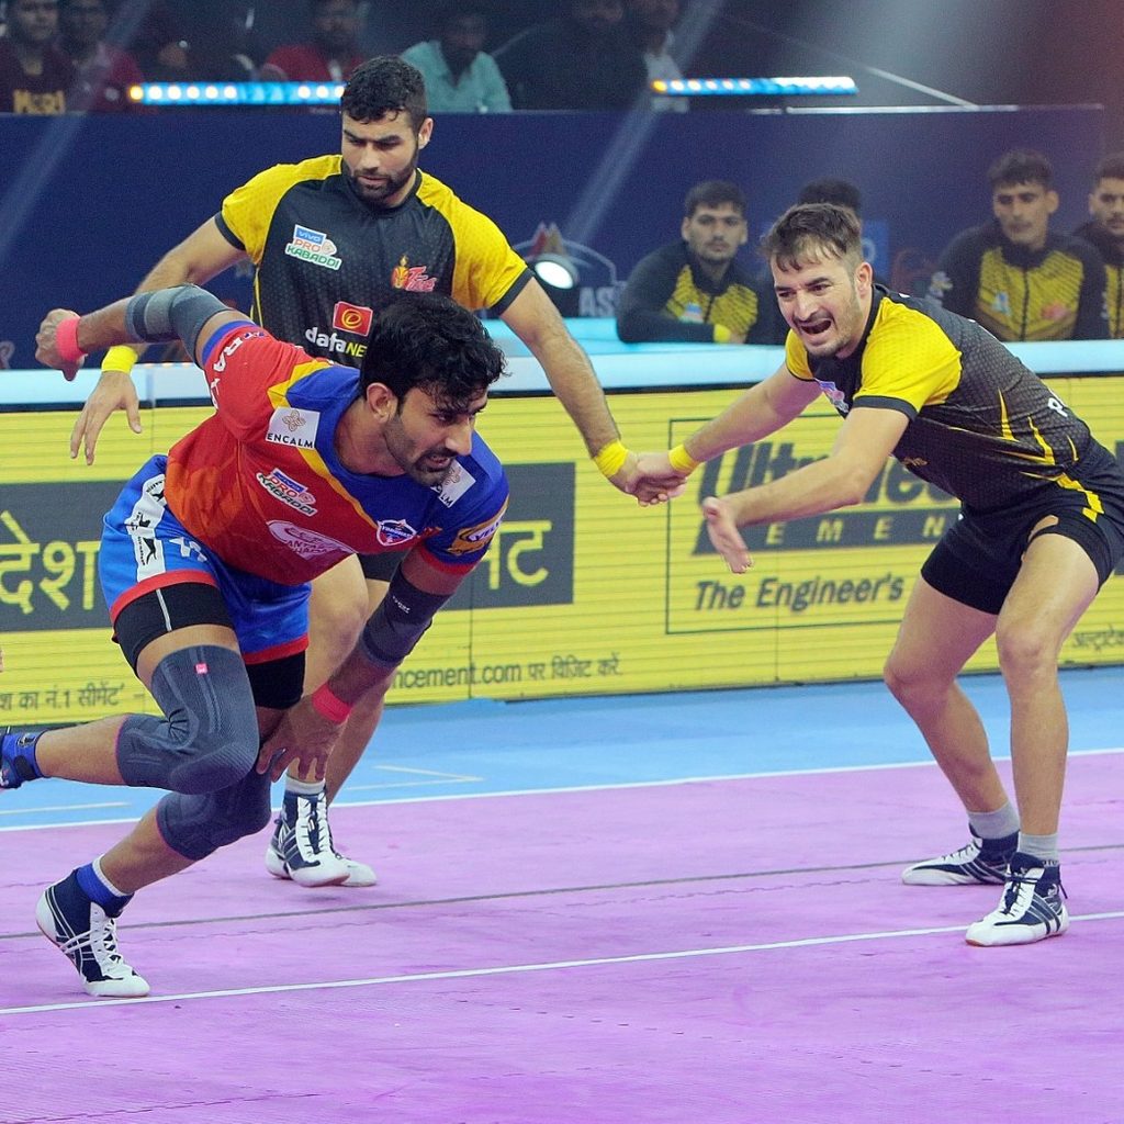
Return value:
M 418 169 L 433 119 L 419 71 L 396 56 L 368 60 L 341 99 L 342 154 L 268 169 L 238 188 L 142 281 L 138 291 L 202 284 L 236 262 L 256 266 L 254 319 L 314 355 L 360 366 L 371 319 L 396 290 L 436 291 L 498 315 L 542 364 L 602 473 L 631 491 L 635 456 L 620 444 L 589 359 L 495 223 Z M 114 348 L 71 437 L 71 455 L 94 446 L 119 408 L 139 432 L 127 371 L 136 360 Z M 389 562 L 389 564 L 388 564 Z M 312 587 L 306 686 L 315 690 L 347 656 L 386 593 L 393 555 L 348 559 Z M 364 581 L 365 579 L 365 581 Z M 366 863 L 336 851 L 330 801 L 365 750 L 381 699 L 361 700 L 328 763 L 327 783 L 290 772 L 266 868 L 303 886 L 370 886 Z

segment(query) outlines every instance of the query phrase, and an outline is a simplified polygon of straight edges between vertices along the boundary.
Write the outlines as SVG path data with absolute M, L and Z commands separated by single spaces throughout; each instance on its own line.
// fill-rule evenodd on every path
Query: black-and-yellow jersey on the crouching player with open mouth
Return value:
M 1111 461 L 1036 374 L 934 300 L 878 287 L 862 342 L 846 359 L 810 357 L 791 332 L 785 352 L 792 374 L 814 379 L 842 416 L 860 406 L 905 414 L 895 457 L 967 508 L 1075 488 L 1078 461 Z

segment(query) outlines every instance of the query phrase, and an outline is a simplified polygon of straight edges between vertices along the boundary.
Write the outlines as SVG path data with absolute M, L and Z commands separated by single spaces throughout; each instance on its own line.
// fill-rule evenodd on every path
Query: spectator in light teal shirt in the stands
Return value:
M 415 43 L 402 58 L 425 78 L 429 111 L 495 114 L 511 108 L 496 60 L 483 49 L 488 12 L 470 0 L 447 0 L 435 21 L 436 39 Z

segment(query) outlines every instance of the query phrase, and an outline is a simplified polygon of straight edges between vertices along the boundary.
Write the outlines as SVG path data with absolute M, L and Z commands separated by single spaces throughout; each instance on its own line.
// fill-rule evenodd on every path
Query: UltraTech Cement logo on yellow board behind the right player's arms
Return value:
M 697 495 L 701 499 L 758 488 L 817 460 L 822 457 L 798 456 L 790 441 L 756 442 L 736 454 L 708 461 L 699 477 Z M 887 461 L 862 507 L 746 527 L 742 535 L 751 552 L 932 545 L 955 522 L 959 510 L 960 505 L 948 492 L 915 477 L 897 461 Z M 700 519 L 691 554 L 714 553 L 706 524 Z

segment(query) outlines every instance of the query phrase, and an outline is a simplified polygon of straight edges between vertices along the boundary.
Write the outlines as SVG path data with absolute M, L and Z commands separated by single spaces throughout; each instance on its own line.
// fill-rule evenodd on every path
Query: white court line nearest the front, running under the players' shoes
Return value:
M 1085 914 L 1076 922 L 1120 921 L 1124 909 L 1112 913 Z M 408 976 L 372 976 L 360 980 L 326 980 L 318 984 L 274 984 L 270 987 L 227 988 L 221 991 L 183 991 L 180 995 L 149 995 L 143 999 L 85 999 L 75 1003 L 51 1003 L 36 1007 L 0 1007 L 0 1015 L 40 1015 L 55 1010 L 101 1010 L 103 1007 L 140 1004 L 185 1003 L 188 999 L 229 999 L 251 995 L 285 995 L 293 991 L 338 991 L 343 988 L 384 987 L 389 984 L 420 984 L 432 980 L 481 979 L 488 976 L 516 976 L 526 972 L 552 972 L 566 968 L 602 968 L 607 964 L 643 964 L 661 960 L 690 960 L 700 957 L 729 957 L 746 952 L 773 952 L 778 949 L 812 949 L 826 944 L 852 944 L 856 941 L 901 940 L 913 936 L 940 936 L 962 933 L 963 925 L 940 928 L 899 928 L 885 933 L 847 933 L 842 936 L 807 936 L 798 941 L 773 941 L 768 944 L 731 944 L 719 949 L 685 949 L 680 952 L 637 952 L 628 957 L 591 957 L 588 960 L 553 960 L 538 964 L 502 964 L 496 968 L 456 968 L 444 972 L 414 972 Z

